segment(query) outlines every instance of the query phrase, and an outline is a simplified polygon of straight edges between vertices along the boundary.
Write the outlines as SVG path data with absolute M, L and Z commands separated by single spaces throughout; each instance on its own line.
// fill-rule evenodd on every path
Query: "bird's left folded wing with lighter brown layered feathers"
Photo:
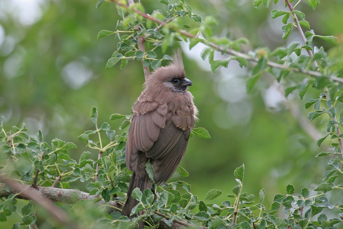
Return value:
M 165 127 L 167 105 L 157 102 L 137 101 L 126 142 L 126 165 L 135 168 L 139 151 L 148 151 L 158 139 L 161 128 Z

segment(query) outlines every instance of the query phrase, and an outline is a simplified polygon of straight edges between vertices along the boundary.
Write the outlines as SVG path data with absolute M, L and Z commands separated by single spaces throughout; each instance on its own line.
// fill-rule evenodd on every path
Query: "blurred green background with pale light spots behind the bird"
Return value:
M 155 0 L 141 2 L 147 13 L 166 7 Z M 217 36 L 246 37 L 249 44 L 244 52 L 300 42 L 295 29 L 283 40 L 281 17 L 271 19 L 271 9 L 288 10 L 282 1 L 271 9 L 262 5 L 256 9 L 252 0 L 187 3 L 194 13 L 212 15 L 218 21 L 213 27 Z M 98 108 L 99 122 L 108 122 L 121 133 L 121 121 L 111 121 L 109 116 L 130 114 L 144 83 L 140 61 L 105 70 L 117 41 L 115 36 L 98 40 L 97 33 L 115 31 L 119 17 L 114 4 L 103 3 L 98 9 L 95 4 L 95 0 L 0 0 L 0 116 L 5 118 L 4 126 L 8 129 L 25 122 L 32 135 L 41 129 L 47 142 L 54 138 L 74 142 L 78 149 L 71 151 L 73 159 L 88 150 L 77 137 L 93 128 L 91 108 Z M 297 9 L 305 13 L 316 34 L 335 35 L 342 42 L 343 1 L 321 1 L 315 11 L 302 1 Z M 337 47 L 319 39 L 314 45 L 324 46 L 332 60 L 342 60 Z M 279 86 L 265 74 L 247 94 L 245 80 L 251 65 L 240 68 L 232 61 L 228 68 L 212 73 L 208 61 L 200 58 L 201 44 L 191 50 L 185 42 L 175 46 L 184 50 L 187 78 L 194 84 L 189 90 L 200 111 L 197 127 L 206 128 L 211 139 L 190 139 L 180 164 L 190 175 L 175 174 L 172 180 L 184 179 L 200 199 L 213 188 L 221 190 L 222 196 L 214 200 L 221 203 L 237 185 L 233 171 L 244 163 L 243 191 L 258 196 L 265 188 L 267 206 L 276 193 L 285 193 L 287 184 L 293 184 L 298 193 L 302 187 L 313 190 L 313 183 L 320 182 L 328 170 L 328 158 L 315 156 L 327 150 L 330 142 L 317 146 L 315 139 L 326 134 L 326 125 L 320 120 L 309 123 L 304 103 L 318 98 L 322 91 L 310 88 L 303 100 L 297 92 L 285 99 L 284 86 L 304 76 L 291 75 Z M 167 54 L 171 51 L 169 48 Z M 215 58 L 223 57 L 217 54 Z M 77 188 L 85 191 L 84 185 Z

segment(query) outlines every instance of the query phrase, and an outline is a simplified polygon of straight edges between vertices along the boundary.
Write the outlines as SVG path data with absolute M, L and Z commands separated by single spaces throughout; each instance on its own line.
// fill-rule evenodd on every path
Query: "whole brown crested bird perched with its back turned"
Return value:
M 132 108 L 126 142 L 126 165 L 132 177 L 122 215 L 130 216 L 138 204 L 131 197 L 134 188 L 143 191 L 151 187 L 145 171 L 147 161 L 154 169 L 156 184 L 161 185 L 174 174 L 184 156 L 198 113 L 193 96 L 187 91 L 190 85 L 193 84 L 185 78 L 180 50 L 169 65 L 155 69 L 146 79 L 146 89 Z

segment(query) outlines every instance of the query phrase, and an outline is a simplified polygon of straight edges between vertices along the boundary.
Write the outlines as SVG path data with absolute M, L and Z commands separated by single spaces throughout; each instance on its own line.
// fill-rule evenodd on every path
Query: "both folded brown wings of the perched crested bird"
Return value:
M 156 184 L 165 183 L 185 154 L 194 116 L 185 109 L 168 111 L 166 104 L 137 101 L 126 143 L 126 164 L 136 168 L 137 155 L 152 159 Z

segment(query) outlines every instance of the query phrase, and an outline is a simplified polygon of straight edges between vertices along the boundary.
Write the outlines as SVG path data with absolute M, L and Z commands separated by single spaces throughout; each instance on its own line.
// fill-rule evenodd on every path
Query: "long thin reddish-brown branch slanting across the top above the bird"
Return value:
M 129 9 L 132 12 L 137 13 L 137 14 L 143 16 L 144 18 L 150 20 L 150 21 L 153 21 L 153 22 L 156 22 L 156 23 L 160 24 L 158 27 L 169 26 L 169 27 L 173 28 L 175 31 L 177 31 L 178 33 L 180 33 L 182 35 L 185 35 L 185 36 L 187 36 L 189 38 L 197 38 L 196 35 L 193 35 L 193 34 L 190 34 L 190 33 L 186 32 L 186 31 L 184 31 L 184 30 L 180 30 L 178 28 L 175 28 L 175 27 L 173 27 L 173 25 L 167 24 L 167 22 L 163 22 L 161 20 L 155 19 L 152 16 L 149 16 L 146 13 L 143 13 L 143 12 L 137 10 L 137 9 L 130 8 L 128 5 L 125 5 L 125 4 L 123 4 L 123 3 L 121 3 L 121 2 L 119 2 L 117 0 L 111 0 L 111 2 L 113 2 L 113 3 L 117 4 L 117 5 L 120 5 L 120 6 L 124 7 L 124 8 L 126 8 L 126 9 Z M 300 26 L 298 26 L 298 28 L 300 28 Z M 305 41 L 306 41 L 306 39 L 305 39 Z M 213 47 L 216 51 L 219 51 L 221 53 L 226 53 L 226 54 L 231 55 L 231 56 L 241 57 L 241 58 L 244 58 L 244 59 L 252 61 L 252 62 L 258 62 L 259 61 L 258 58 L 253 58 L 253 57 L 251 57 L 251 56 L 249 56 L 247 54 L 241 53 L 239 51 L 235 51 L 233 49 L 222 48 L 222 47 L 220 47 L 220 46 L 218 46 L 218 45 L 216 45 L 216 44 L 214 44 L 212 42 L 207 42 L 207 41 L 200 41 L 200 42 L 203 43 L 206 46 Z M 310 50 L 308 50 L 308 51 L 310 51 Z M 312 53 L 311 53 L 311 55 L 313 57 Z M 280 68 L 280 69 L 285 69 L 285 70 L 288 70 L 288 71 L 294 71 L 294 72 L 299 72 L 299 73 L 303 73 L 303 74 L 306 74 L 306 75 L 311 75 L 313 77 L 323 77 L 323 76 L 326 76 L 326 75 L 322 74 L 321 72 L 310 71 L 310 70 L 301 70 L 301 69 L 298 69 L 298 68 L 290 68 L 287 65 L 278 64 L 278 63 L 275 63 L 273 61 L 267 61 L 267 65 L 270 66 L 270 67 L 274 67 L 274 68 Z M 337 78 L 337 77 L 334 77 L 333 75 L 328 75 L 328 76 L 330 78 L 332 78 L 333 81 L 343 83 L 343 79 L 342 78 Z

